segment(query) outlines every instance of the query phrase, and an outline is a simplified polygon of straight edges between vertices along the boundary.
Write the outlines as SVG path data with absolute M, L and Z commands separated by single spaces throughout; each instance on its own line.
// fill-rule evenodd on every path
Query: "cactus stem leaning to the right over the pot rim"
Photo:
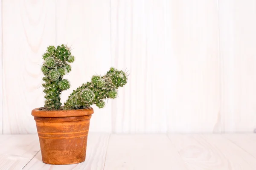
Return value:
M 104 76 L 93 76 L 91 82 L 87 82 L 73 91 L 67 102 L 64 103 L 64 109 L 87 108 L 92 104 L 103 108 L 105 105 L 103 99 L 115 99 L 117 89 L 126 83 L 127 75 L 125 72 L 110 68 Z

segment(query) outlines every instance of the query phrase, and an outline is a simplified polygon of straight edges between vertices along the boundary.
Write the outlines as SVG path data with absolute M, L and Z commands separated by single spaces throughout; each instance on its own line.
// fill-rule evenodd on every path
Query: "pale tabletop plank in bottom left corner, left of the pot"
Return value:
M 37 135 L 0 135 L 0 169 L 21 170 L 40 150 Z

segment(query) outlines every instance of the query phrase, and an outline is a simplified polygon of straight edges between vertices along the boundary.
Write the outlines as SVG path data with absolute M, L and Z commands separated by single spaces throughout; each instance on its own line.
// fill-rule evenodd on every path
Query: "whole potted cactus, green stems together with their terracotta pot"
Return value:
M 32 110 L 39 136 L 42 160 L 47 164 L 76 164 L 83 162 L 86 155 L 87 135 L 90 118 L 95 104 L 105 105 L 105 99 L 115 99 L 117 89 L 127 83 L 127 73 L 115 68 L 104 76 L 93 76 L 91 82 L 82 84 L 73 91 L 64 105 L 61 91 L 70 88 L 63 79 L 71 71 L 69 63 L 75 58 L 67 45 L 57 48 L 49 46 L 43 55 L 41 71 L 45 103 L 44 107 Z

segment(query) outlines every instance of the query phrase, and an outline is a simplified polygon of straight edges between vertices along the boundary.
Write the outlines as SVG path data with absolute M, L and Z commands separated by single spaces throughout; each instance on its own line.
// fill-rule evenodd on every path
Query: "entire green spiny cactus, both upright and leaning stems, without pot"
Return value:
M 93 76 L 91 82 L 81 85 L 68 97 L 64 106 L 61 106 L 61 91 L 70 88 L 70 82 L 63 79 L 63 76 L 71 71 L 71 66 L 67 62 L 74 62 L 75 58 L 71 55 L 67 45 L 55 48 L 49 46 L 43 55 L 44 64 L 41 71 L 44 74 L 44 84 L 42 85 L 45 93 L 45 105 L 48 110 L 71 110 L 89 108 L 95 104 L 99 108 L 105 106 L 104 99 L 115 99 L 117 89 L 127 83 L 127 74 L 115 68 L 104 76 Z

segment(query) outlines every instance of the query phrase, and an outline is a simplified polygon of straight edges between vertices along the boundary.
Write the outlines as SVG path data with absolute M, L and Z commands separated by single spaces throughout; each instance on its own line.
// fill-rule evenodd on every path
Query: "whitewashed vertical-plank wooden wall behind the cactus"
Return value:
M 36 133 L 41 55 L 72 45 L 73 89 L 111 66 L 128 84 L 90 131 L 252 132 L 256 0 L 2 0 L 0 133 Z M 3 93 L 3 95 L 2 95 Z M 2 106 L 3 104 L 3 106 Z

